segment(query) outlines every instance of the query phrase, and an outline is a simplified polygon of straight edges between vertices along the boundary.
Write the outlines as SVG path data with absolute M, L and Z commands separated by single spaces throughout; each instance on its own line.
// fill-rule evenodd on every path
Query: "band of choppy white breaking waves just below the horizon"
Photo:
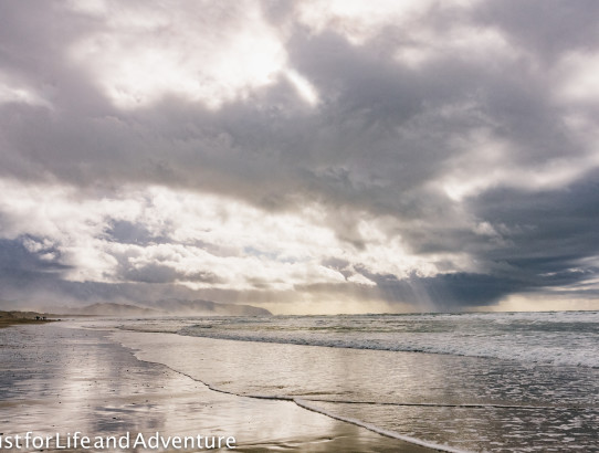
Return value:
M 599 368 L 599 313 L 237 318 L 186 327 L 189 336 L 336 348 L 445 354 Z

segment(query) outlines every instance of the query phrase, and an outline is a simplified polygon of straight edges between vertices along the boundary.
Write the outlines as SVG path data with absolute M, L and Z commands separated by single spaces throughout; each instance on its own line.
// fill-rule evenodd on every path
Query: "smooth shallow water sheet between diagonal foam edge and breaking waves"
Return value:
M 372 319 L 353 317 L 349 325 L 359 329 L 360 323 Z M 160 324 L 166 331 L 175 331 L 171 320 L 156 325 L 145 320 L 118 323 L 122 328 L 113 338 L 135 350 L 139 359 L 166 365 L 211 388 L 237 396 L 288 399 L 329 417 L 383 430 L 397 439 L 434 444 L 442 451 L 598 451 L 599 379 L 595 368 L 239 339 L 271 339 L 273 333 L 309 339 L 297 330 L 281 329 L 284 319 L 189 322 L 201 327 L 183 328 L 180 334 L 229 333 L 237 338 L 156 331 Z M 317 326 L 320 330 L 323 323 L 334 327 L 340 323 L 338 318 L 294 318 L 293 327 L 304 322 L 308 328 Z M 381 320 L 385 326 L 391 322 Z M 413 317 L 409 322 L 418 323 Z M 234 329 L 219 328 L 219 323 L 234 323 Z M 434 323 L 433 329 L 439 326 L 438 320 Z M 313 329 L 309 333 L 316 337 Z M 365 335 L 364 328 L 358 335 Z M 396 335 L 401 338 L 400 333 Z M 336 333 L 329 336 L 339 338 Z M 356 341 L 356 336 L 353 339 Z M 485 340 L 481 337 L 477 341 L 484 345 Z M 492 341 L 497 343 L 497 337 Z

